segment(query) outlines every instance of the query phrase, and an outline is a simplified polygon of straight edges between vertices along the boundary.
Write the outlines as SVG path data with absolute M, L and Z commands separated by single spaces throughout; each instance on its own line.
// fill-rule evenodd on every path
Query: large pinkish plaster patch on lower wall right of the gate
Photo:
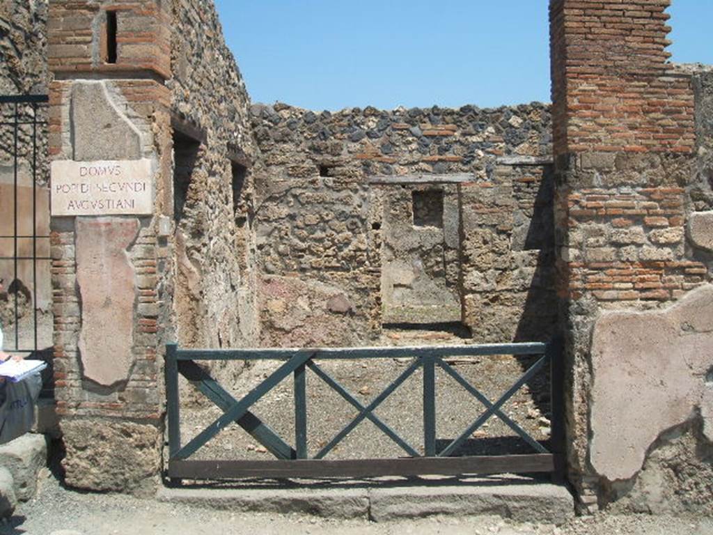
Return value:
M 630 479 L 667 429 L 700 409 L 706 429 L 713 395 L 713 285 L 662 311 L 605 312 L 595 325 L 591 462 L 610 481 Z

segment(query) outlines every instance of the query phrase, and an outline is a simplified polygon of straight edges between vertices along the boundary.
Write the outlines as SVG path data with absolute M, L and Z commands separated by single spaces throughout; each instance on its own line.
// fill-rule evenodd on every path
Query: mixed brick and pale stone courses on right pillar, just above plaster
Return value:
M 568 213 L 572 299 L 669 301 L 706 281 L 706 265 L 685 254 L 682 188 L 578 190 Z

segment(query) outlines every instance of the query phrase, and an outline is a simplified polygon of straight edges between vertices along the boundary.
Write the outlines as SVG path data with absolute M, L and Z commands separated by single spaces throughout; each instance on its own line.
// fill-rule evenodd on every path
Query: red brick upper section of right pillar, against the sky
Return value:
M 555 153 L 694 148 L 694 97 L 670 72 L 670 0 L 553 0 Z

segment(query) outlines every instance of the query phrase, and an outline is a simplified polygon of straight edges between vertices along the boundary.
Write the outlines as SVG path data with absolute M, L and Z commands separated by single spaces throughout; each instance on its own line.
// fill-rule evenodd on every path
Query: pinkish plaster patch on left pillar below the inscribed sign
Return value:
M 105 386 L 127 379 L 133 364 L 134 272 L 126 249 L 135 219 L 78 218 L 77 281 L 82 298 L 79 337 L 84 376 Z

